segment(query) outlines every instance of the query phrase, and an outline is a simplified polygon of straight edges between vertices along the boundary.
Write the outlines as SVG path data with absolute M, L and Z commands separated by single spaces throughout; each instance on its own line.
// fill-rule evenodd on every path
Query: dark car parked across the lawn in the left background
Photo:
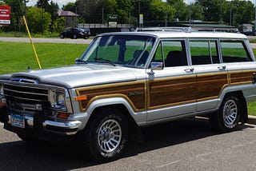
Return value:
M 89 38 L 90 30 L 89 29 L 81 29 L 81 28 L 71 28 L 63 31 L 60 34 L 60 38 Z

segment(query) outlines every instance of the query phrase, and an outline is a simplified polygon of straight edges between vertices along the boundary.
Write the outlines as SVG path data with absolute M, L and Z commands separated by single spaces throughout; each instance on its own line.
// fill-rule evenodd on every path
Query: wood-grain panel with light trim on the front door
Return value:
M 148 82 L 148 109 L 196 102 L 196 76 L 158 78 Z

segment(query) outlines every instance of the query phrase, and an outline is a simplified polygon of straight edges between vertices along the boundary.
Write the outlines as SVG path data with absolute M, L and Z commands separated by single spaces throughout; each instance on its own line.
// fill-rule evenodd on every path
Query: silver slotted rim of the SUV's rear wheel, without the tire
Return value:
M 223 106 L 223 120 L 226 126 L 233 125 L 237 121 L 238 117 L 238 106 L 232 99 L 226 101 Z

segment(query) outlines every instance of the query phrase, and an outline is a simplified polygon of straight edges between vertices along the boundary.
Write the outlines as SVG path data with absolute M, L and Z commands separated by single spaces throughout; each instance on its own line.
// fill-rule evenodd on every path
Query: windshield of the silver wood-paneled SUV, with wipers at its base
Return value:
M 155 38 L 135 35 L 107 35 L 94 39 L 81 61 L 144 67 Z

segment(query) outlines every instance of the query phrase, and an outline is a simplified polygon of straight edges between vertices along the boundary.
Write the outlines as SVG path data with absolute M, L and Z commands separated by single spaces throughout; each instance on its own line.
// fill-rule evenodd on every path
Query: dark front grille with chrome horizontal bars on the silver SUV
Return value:
M 42 106 L 50 105 L 48 100 L 49 89 L 33 84 L 9 84 L 5 83 L 3 91 L 7 105 L 10 109 L 19 111 L 38 111 Z

